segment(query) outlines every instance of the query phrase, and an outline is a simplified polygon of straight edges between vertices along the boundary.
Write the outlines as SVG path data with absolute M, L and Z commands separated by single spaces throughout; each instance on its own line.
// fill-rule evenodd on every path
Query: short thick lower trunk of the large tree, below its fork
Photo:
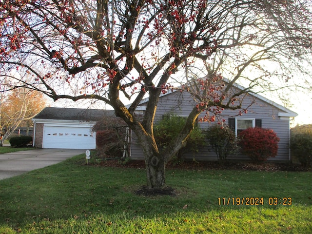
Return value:
M 149 189 L 164 189 L 165 181 L 165 162 L 157 154 L 145 157 L 147 186 Z

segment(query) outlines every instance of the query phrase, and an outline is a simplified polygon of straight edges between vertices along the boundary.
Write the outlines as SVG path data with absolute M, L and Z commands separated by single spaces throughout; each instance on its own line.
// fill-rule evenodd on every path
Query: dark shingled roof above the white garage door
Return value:
M 98 121 L 103 116 L 115 116 L 114 110 L 46 107 L 33 119 Z

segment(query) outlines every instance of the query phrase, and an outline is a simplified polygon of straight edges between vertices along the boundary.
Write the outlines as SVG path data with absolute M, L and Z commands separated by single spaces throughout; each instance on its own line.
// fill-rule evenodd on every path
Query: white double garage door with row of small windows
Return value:
M 95 149 L 96 134 L 89 127 L 44 126 L 42 148 Z

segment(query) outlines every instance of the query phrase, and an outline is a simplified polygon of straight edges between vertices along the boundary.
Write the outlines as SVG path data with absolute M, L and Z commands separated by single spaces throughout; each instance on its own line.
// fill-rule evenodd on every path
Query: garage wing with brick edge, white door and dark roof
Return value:
M 95 123 L 113 110 L 46 107 L 32 120 L 33 146 L 56 149 L 95 149 Z

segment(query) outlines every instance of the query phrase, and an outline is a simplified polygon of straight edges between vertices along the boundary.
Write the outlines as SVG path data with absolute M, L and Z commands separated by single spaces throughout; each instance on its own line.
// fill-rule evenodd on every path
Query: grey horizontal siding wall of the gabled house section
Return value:
M 183 100 L 183 101 L 182 101 Z M 250 104 L 253 103 L 252 106 Z M 144 105 L 144 103 L 142 104 Z M 163 115 L 168 113 L 174 113 L 178 116 L 187 117 L 195 106 L 194 100 L 186 92 L 174 92 L 159 98 L 157 105 L 155 121 L 158 121 Z M 249 107 L 250 106 L 250 107 Z M 239 116 L 239 110 L 224 110 L 220 119 L 226 119 L 226 124 L 229 122 L 229 118 L 254 118 L 262 120 L 262 128 L 273 129 L 273 131 L 280 138 L 278 143 L 277 156 L 269 158 L 269 160 L 290 160 L 289 154 L 289 117 L 279 117 L 278 113 L 284 112 L 277 107 L 259 99 L 254 96 L 248 95 L 242 101 L 242 107 L 248 107 L 248 113 Z M 242 109 L 243 110 L 243 109 Z M 199 117 L 203 117 L 201 114 Z M 216 120 L 217 121 L 217 120 Z M 201 128 L 205 129 L 215 123 L 198 123 Z M 137 143 L 137 137 L 132 134 L 131 145 L 131 157 L 134 159 L 143 159 L 143 152 L 141 147 Z M 217 160 L 215 153 L 209 146 L 202 147 L 198 153 L 190 153 L 186 155 L 187 159 L 195 158 L 196 160 Z M 249 159 L 247 156 L 236 155 L 229 156 L 228 159 Z

